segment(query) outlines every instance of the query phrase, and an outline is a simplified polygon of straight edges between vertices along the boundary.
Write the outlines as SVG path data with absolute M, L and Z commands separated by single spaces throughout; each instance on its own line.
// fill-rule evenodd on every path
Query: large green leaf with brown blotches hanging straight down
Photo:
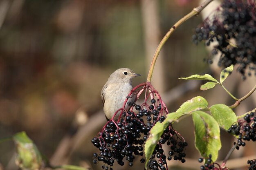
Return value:
M 218 123 L 203 111 L 193 112 L 192 118 L 195 126 L 195 147 L 202 157 L 209 157 L 211 154 L 212 160 L 216 161 L 221 148 Z

